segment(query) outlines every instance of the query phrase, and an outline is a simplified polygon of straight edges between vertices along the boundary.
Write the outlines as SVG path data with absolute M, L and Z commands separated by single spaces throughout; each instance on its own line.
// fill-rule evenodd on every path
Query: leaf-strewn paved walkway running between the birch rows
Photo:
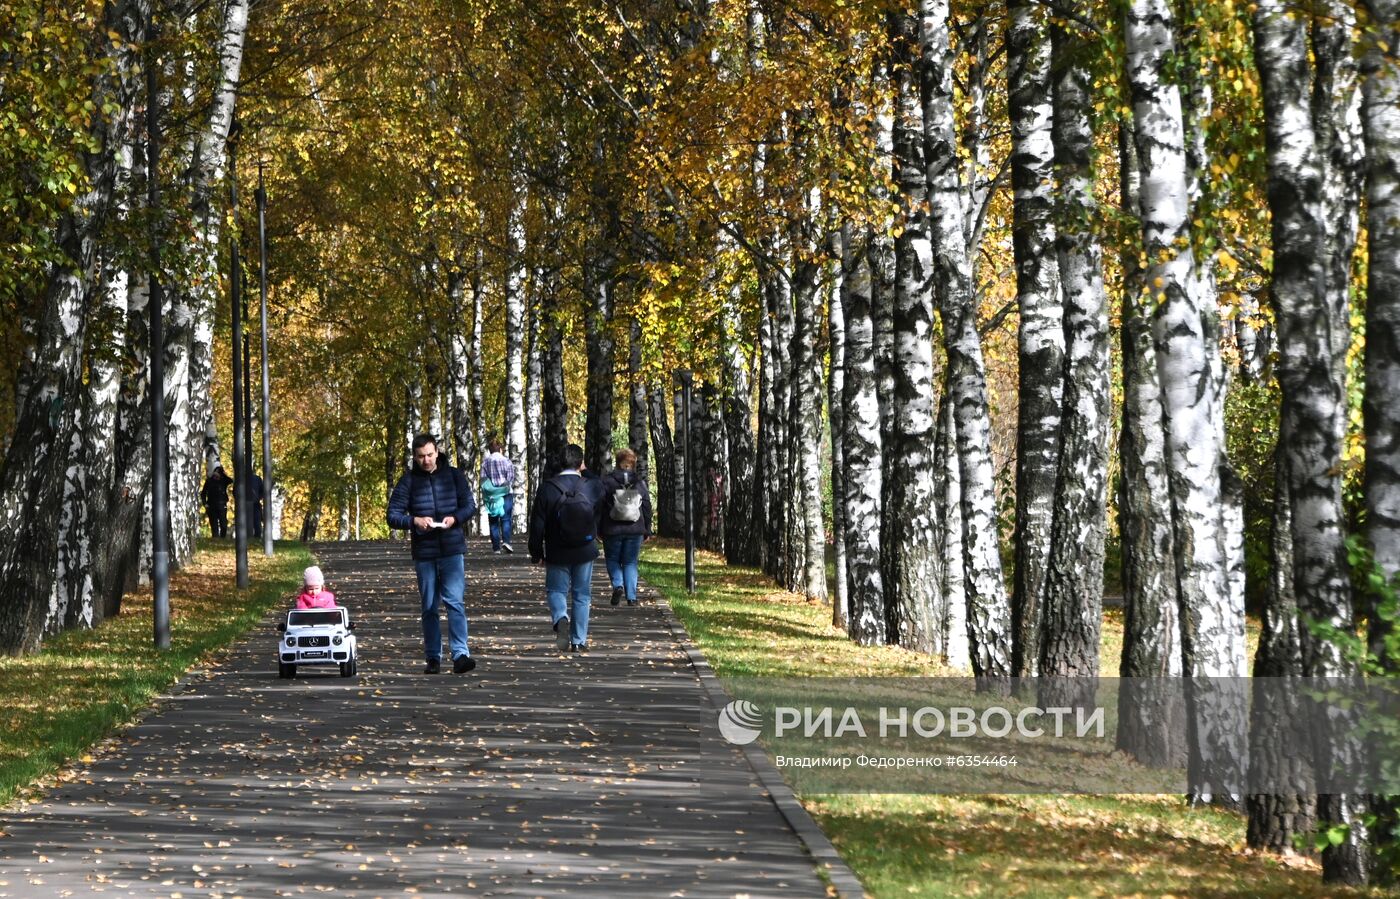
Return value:
M 594 651 L 566 657 L 542 570 L 475 541 L 479 667 L 430 676 L 406 548 L 316 553 L 358 676 L 277 679 L 270 615 L 74 780 L 0 811 L 0 896 L 827 893 L 669 612 L 610 608 L 601 563 Z

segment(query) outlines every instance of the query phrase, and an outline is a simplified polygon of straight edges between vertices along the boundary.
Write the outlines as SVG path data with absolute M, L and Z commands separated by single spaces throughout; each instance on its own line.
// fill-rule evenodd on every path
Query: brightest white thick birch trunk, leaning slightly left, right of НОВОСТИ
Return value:
M 1135 0 L 1124 20 L 1128 76 L 1141 172 L 1140 217 L 1154 339 L 1166 416 L 1177 584 L 1190 678 L 1245 675 L 1245 611 L 1232 608 L 1224 555 L 1221 461 L 1217 424 L 1218 311 L 1203 295 L 1190 239 L 1190 183 L 1180 90 L 1166 80 L 1173 57 L 1172 11 Z M 1242 710 L 1221 690 L 1193 693 L 1191 788 L 1204 798 L 1236 794 L 1229 772 L 1246 758 Z

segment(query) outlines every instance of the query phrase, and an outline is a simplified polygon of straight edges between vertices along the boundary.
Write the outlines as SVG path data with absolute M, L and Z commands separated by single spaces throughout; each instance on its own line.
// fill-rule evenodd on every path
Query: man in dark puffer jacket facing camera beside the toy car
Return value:
M 442 665 L 441 608 L 447 606 L 448 644 L 452 671 L 476 668 L 466 646 L 466 536 L 462 525 L 476 513 L 476 499 L 466 476 L 438 459 L 431 434 L 413 438 L 413 468 L 399 479 L 389 496 L 389 527 L 410 531 L 413 567 L 423 599 L 423 647 L 427 674 Z

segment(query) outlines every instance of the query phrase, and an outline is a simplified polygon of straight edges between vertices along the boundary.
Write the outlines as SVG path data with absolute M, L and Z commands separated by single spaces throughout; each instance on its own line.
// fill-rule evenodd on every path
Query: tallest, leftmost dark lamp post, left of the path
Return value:
M 160 109 L 155 84 L 155 13 L 147 18 L 146 50 L 146 203 L 150 213 L 151 270 L 151 588 L 155 648 L 171 646 L 169 438 L 165 431 L 165 322 L 161 314 Z

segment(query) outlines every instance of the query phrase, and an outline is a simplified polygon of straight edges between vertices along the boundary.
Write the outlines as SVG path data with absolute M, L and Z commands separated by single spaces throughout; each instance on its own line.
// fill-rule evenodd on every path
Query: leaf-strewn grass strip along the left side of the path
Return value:
M 234 588 L 228 541 L 203 545 L 171 578 L 171 648 L 151 641 L 151 595 L 130 594 L 122 613 L 92 630 L 52 637 L 42 651 L 0 658 L 0 805 L 80 759 L 129 724 L 186 671 L 242 634 L 301 584 L 311 555 L 277 545 L 248 555 L 252 587 Z

